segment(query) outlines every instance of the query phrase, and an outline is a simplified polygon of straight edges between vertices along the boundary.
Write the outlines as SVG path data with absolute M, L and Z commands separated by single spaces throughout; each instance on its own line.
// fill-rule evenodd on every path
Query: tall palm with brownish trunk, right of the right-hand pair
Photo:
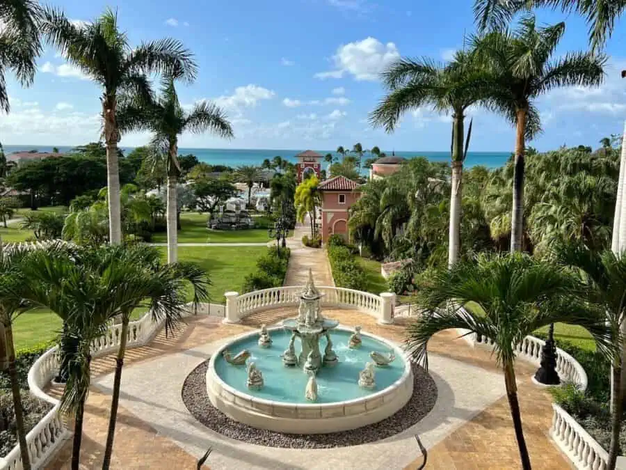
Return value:
M 570 52 L 552 60 L 565 23 L 538 28 L 533 15 L 520 19 L 516 31 L 495 31 L 472 39 L 476 57 L 493 77 L 487 104 L 516 128 L 511 251 L 522 249 L 524 146 L 540 132 L 535 100 L 562 86 L 597 86 L 604 79 L 607 58 L 591 52 Z

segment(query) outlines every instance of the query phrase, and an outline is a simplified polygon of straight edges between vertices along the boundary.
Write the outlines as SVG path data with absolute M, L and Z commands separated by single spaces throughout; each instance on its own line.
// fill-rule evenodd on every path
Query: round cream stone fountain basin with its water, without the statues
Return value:
M 360 428 L 391 416 L 408 402 L 413 391 L 410 364 L 403 351 L 390 341 L 362 332 L 360 350 L 349 350 L 352 329 L 338 327 L 332 331 L 332 342 L 339 363 L 323 367 L 317 375 L 319 400 L 305 400 L 307 375 L 300 367 L 282 365 L 280 355 L 289 341 L 291 331 L 283 327 L 268 329 L 273 344 L 269 349 L 255 347 L 258 332 L 238 336 L 220 347 L 209 361 L 207 394 L 211 404 L 236 421 L 255 428 L 289 434 L 323 434 Z M 323 343 L 324 339 L 321 340 Z M 260 391 L 246 388 L 243 366 L 225 362 L 222 352 L 250 350 L 257 368 L 264 374 L 265 386 Z M 358 387 L 358 372 L 369 359 L 369 352 L 390 352 L 396 355 L 387 368 L 376 368 L 376 388 Z

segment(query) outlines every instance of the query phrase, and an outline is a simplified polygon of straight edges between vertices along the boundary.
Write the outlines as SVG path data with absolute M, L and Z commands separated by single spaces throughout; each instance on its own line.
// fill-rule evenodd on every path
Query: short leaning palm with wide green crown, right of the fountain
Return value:
M 419 288 L 422 318 L 410 324 L 406 345 L 416 361 L 428 364 L 428 340 L 445 329 L 467 329 L 494 342 L 504 383 L 522 468 L 531 468 L 524 440 L 515 382 L 515 345 L 540 327 L 554 322 L 586 328 L 600 350 L 611 349 L 611 334 L 600 308 L 580 300 L 578 284 L 565 269 L 533 260 L 522 253 L 459 261 L 424 281 Z M 472 311 L 468 303 L 481 311 Z M 474 307 L 475 308 L 475 307 Z

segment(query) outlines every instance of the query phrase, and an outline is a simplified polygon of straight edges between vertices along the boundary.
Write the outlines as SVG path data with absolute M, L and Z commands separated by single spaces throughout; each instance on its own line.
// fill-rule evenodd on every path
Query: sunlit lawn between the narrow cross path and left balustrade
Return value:
M 166 256 L 165 247 L 159 248 Z M 257 258 L 266 252 L 264 246 L 203 247 L 187 246 L 179 249 L 179 260 L 192 261 L 209 272 L 212 285 L 211 302 L 222 304 L 224 292 L 241 292 L 243 278 L 255 269 Z M 188 294 L 191 300 L 191 292 Z M 139 318 L 145 308 L 138 309 L 133 317 Z M 15 320 L 13 334 L 15 347 L 30 347 L 55 338 L 61 330 L 61 320 L 50 311 L 24 313 Z

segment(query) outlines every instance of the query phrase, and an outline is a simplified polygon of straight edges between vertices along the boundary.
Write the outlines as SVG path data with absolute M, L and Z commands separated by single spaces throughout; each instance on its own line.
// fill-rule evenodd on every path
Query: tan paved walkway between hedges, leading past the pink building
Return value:
M 310 234 L 310 222 L 308 217 L 303 224 L 296 224 L 294 236 L 287 239 L 291 249 L 287 275 L 284 277 L 284 285 L 305 285 L 309 276 L 309 269 L 313 272 L 316 285 L 335 285 L 330 272 L 330 265 L 326 257 L 326 250 L 321 248 L 309 248 L 302 244 L 302 237 Z

